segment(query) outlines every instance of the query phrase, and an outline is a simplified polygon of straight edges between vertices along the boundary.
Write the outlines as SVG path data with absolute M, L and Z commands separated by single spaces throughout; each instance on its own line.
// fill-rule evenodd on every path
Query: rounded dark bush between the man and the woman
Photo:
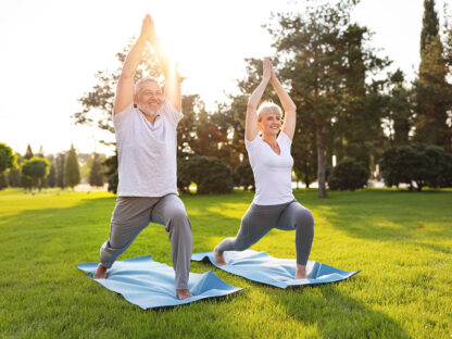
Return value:
M 188 191 L 191 183 L 197 184 L 198 193 L 230 193 L 234 188 L 233 171 L 219 159 L 194 155 L 179 161 L 177 186 Z

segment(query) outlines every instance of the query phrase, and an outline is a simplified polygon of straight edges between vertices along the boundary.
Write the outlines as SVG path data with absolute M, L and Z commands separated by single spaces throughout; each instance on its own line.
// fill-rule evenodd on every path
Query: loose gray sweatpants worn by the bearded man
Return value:
M 117 197 L 110 238 L 100 249 L 100 262 L 110 267 L 149 223 L 165 225 L 170 233 L 176 289 L 187 289 L 192 247 L 191 224 L 183 201 L 176 194 L 161 198 Z

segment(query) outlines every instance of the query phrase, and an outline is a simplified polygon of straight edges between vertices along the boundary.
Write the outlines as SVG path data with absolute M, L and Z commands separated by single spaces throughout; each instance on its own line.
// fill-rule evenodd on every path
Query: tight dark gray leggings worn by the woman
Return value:
M 224 252 L 249 249 L 272 228 L 297 229 L 297 264 L 305 265 L 314 238 L 314 218 L 310 210 L 303 208 L 297 200 L 277 205 L 252 203 L 241 219 L 237 236 L 219 242 L 218 250 Z

